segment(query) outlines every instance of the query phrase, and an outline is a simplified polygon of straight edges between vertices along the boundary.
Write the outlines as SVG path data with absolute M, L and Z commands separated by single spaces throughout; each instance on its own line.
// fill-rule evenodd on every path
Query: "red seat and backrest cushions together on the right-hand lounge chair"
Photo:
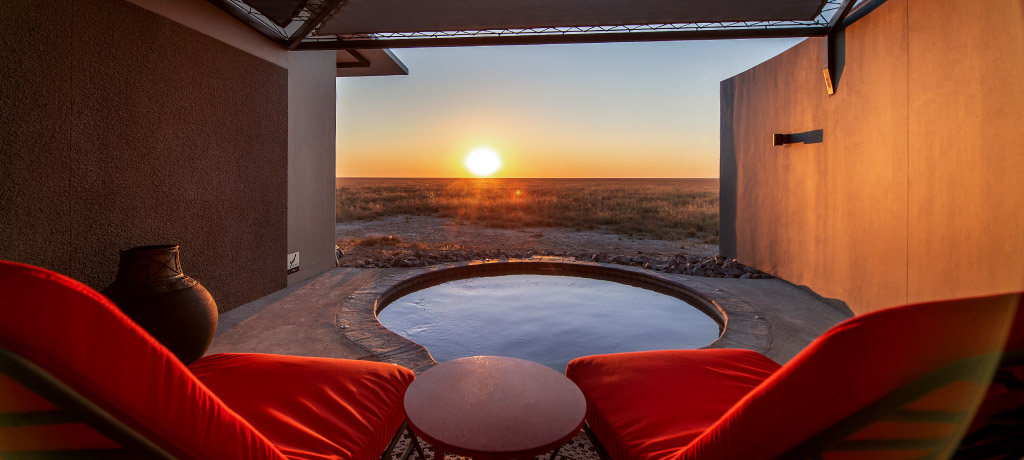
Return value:
M 1019 298 L 940 301 L 857 317 L 770 376 L 773 369 L 763 362 L 744 364 L 757 363 L 750 351 L 721 349 L 587 357 L 566 373 L 587 396 L 588 423 L 613 459 L 775 458 L 931 371 L 1000 351 Z M 973 386 L 980 396 L 984 385 Z

